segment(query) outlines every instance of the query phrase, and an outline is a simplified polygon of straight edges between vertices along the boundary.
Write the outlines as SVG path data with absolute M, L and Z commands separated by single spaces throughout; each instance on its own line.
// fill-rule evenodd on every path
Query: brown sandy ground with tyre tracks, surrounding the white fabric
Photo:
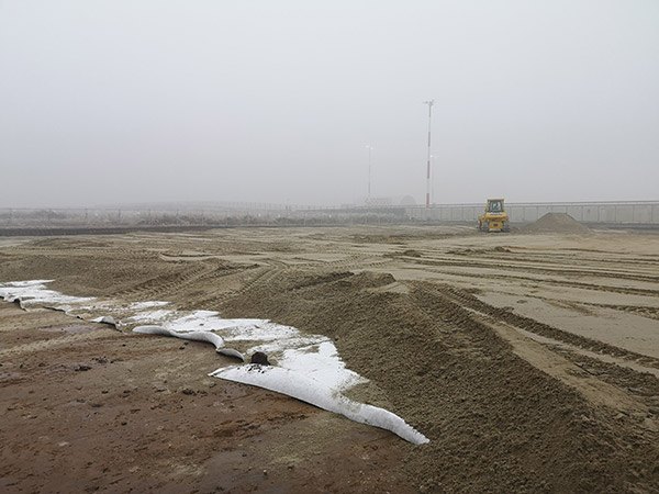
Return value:
M 466 227 L 2 239 L 0 282 L 334 339 L 390 433 L 210 346 L 0 305 L 3 492 L 658 492 L 659 236 Z

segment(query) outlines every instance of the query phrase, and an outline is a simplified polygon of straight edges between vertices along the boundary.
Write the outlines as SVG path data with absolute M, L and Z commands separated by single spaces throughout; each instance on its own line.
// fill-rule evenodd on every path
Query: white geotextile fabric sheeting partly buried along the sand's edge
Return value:
M 74 310 L 100 310 L 118 315 L 112 304 L 94 297 L 63 295 L 48 290 L 53 280 L 30 280 L 0 283 L 0 297 L 25 305 L 48 304 L 49 308 L 71 315 Z M 342 390 L 366 382 L 359 374 L 346 369 L 336 348 L 328 338 L 320 335 L 302 335 L 293 327 L 282 326 L 267 319 L 224 319 L 219 313 L 196 311 L 181 316 L 178 311 L 163 310 L 168 302 L 135 302 L 127 307 L 134 322 L 152 323 L 138 326 L 135 333 L 175 336 L 177 338 L 208 341 L 219 353 L 245 360 L 244 356 L 226 348 L 224 341 L 257 341 L 248 351 L 273 353 L 281 367 L 246 364 L 222 368 L 210 375 L 228 381 L 252 384 L 293 396 L 320 408 L 342 414 L 351 420 L 391 430 L 401 438 L 421 445 L 428 439 L 416 431 L 398 415 L 371 405 L 354 402 Z M 125 310 L 119 310 L 125 315 Z M 103 315 L 91 319 L 96 323 L 121 324 L 115 316 Z M 76 317 L 82 318 L 79 315 Z M 163 325 L 154 325 L 163 324 Z M 167 327 L 165 327 L 167 326 Z M 222 332 L 223 336 L 213 332 Z

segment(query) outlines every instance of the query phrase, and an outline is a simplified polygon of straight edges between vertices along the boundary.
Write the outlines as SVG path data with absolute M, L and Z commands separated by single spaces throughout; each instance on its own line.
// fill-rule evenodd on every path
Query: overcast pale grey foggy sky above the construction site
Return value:
M 657 0 L 0 0 L 0 206 L 659 199 Z

